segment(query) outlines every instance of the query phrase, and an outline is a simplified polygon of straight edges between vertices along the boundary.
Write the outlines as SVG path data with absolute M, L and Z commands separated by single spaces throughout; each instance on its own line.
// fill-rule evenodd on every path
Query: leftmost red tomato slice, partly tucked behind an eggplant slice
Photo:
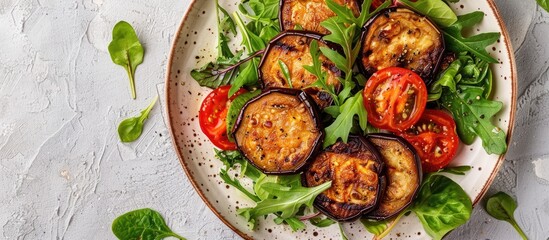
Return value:
M 227 137 L 227 112 L 229 105 L 236 96 L 247 92 L 245 89 L 238 90 L 229 99 L 231 86 L 221 86 L 213 90 L 200 106 L 198 120 L 200 129 L 210 141 L 222 150 L 236 150 L 236 144 L 229 141 Z

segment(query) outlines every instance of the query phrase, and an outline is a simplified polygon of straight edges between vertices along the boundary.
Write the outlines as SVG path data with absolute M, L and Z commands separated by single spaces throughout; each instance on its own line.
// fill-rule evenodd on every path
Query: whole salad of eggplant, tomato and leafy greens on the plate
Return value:
M 413 212 L 440 239 L 469 219 L 471 199 L 440 173 L 465 174 L 448 165 L 477 137 L 507 150 L 486 51 L 500 34 L 462 35 L 484 13 L 447 4 L 216 1 L 217 59 L 191 76 L 212 89 L 200 127 L 219 176 L 256 203 L 237 210 L 251 230 L 273 214 L 293 231 L 360 220 L 383 238 Z

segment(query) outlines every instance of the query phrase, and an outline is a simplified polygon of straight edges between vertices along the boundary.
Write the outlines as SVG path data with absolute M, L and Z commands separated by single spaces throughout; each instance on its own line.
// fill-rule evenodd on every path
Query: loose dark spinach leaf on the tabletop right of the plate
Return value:
M 515 230 L 519 233 L 522 239 L 528 239 L 524 231 L 520 228 L 515 221 L 515 210 L 517 209 L 517 203 L 511 196 L 504 192 L 498 192 L 488 198 L 486 201 L 486 211 L 490 216 L 495 219 L 506 221 L 513 225 Z

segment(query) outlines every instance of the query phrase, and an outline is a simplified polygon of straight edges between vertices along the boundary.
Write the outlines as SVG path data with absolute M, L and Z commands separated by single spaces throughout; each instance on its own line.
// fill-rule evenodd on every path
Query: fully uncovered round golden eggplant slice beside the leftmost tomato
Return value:
M 233 129 L 238 149 L 266 174 L 298 172 L 322 146 L 318 110 L 301 90 L 273 88 L 250 100 Z

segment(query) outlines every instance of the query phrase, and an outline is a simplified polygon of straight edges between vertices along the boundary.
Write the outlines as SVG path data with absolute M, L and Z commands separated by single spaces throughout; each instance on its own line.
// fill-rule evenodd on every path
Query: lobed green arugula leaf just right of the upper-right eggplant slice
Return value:
M 470 52 L 486 62 L 497 63 L 498 61 L 490 56 L 486 48 L 499 39 L 500 33 L 481 33 L 471 37 L 464 37 L 461 34 L 464 28 L 480 23 L 483 18 L 483 12 L 468 13 L 458 16 L 458 20 L 454 24 L 444 28 L 442 32 L 448 50 L 453 52 Z

